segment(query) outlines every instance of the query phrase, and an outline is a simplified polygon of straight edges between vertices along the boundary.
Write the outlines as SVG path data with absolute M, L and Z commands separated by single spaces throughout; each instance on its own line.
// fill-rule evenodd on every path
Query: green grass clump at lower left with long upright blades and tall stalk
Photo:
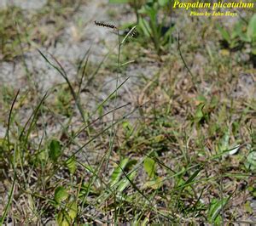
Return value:
M 125 39 L 129 36 L 129 34 L 125 37 Z M 120 46 L 125 43 L 125 39 L 123 39 L 121 42 L 119 42 L 119 50 Z M 44 97 L 39 101 L 39 104 L 34 107 L 32 110 L 31 116 L 28 117 L 27 121 L 23 125 L 19 125 L 20 130 L 15 131 L 14 133 L 11 132 L 11 125 L 12 121 L 17 121 L 17 118 L 15 118 L 15 115 L 13 114 L 13 107 L 10 110 L 9 114 L 9 128 L 8 128 L 8 133 L 7 133 L 7 147 L 8 150 L 5 148 L 3 149 L 3 152 L 8 152 L 14 153 L 14 159 L 9 160 L 8 166 L 6 168 L 13 168 L 15 170 L 15 178 L 13 179 L 13 186 L 11 189 L 11 193 L 9 195 L 9 202 L 7 206 L 5 207 L 5 212 L 3 217 L 1 218 L 2 223 L 4 223 L 5 218 L 7 217 L 7 214 L 9 212 L 9 206 L 11 205 L 11 202 L 15 196 L 15 200 L 18 201 L 20 199 L 23 199 L 26 197 L 28 202 L 26 202 L 26 207 L 29 208 L 26 210 L 27 216 L 30 216 L 30 218 L 23 218 L 20 222 L 26 222 L 26 223 L 32 223 L 32 222 L 38 222 L 38 221 L 44 221 L 44 212 L 38 212 L 37 209 L 35 209 L 35 206 L 40 205 L 44 206 L 43 210 L 49 213 L 49 210 L 54 209 L 55 214 L 57 216 L 56 220 L 60 224 L 65 224 L 65 223 L 73 223 L 75 219 L 79 218 L 79 216 L 82 216 L 84 212 L 84 202 L 87 200 L 87 196 L 90 194 L 91 190 L 89 189 L 84 195 L 80 194 L 79 190 L 81 189 L 81 185 L 77 187 L 77 184 L 74 184 L 75 181 L 73 182 L 68 182 L 65 185 L 54 185 L 54 184 L 59 184 L 61 181 L 56 180 L 56 175 L 57 173 L 63 173 L 62 168 L 67 169 L 69 171 L 70 176 L 77 175 L 75 180 L 81 180 L 84 181 L 84 178 L 80 178 L 79 174 L 75 174 L 77 171 L 77 167 L 81 166 L 80 169 L 83 168 L 85 171 L 89 170 L 89 173 L 92 173 L 91 176 L 89 177 L 89 183 L 90 186 L 95 186 L 100 182 L 100 189 L 103 189 L 103 187 L 107 186 L 107 184 L 102 184 L 102 178 L 100 178 L 100 173 L 102 172 L 102 164 L 105 162 L 107 159 L 109 159 L 109 156 L 111 155 L 111 151 L 113 149 L 113 127 L 117 125 L 120 121 L 124 120 L 127 116 L 129 116 L 134 110 L 131 110 L 130 113 L 128 113 L 126 116 L 122 116 L 120 119 L 116 118 L 113 115 L 113 120 L 110 123 L 109 126 L 104 127 L 104 129 L 100 132 L 92 132 L 89 131 L 89 126 L 92 125 L 94 122 L 97 120 L 91 121 L 90 117 L 84 120 L 84 110 L 82 108 L 82 105 L 80 105 L 79 102 L 79 92 L 80 88 L 82 87 L 82 82 L 83 78 L 81 79 L 81 83 L 79 83 L 79 89 L 77 90 L 77 87 L 74 88 L 74 85 L 72 82 L 70 82 L 66 71 L 62 67 L 62 65 L 59 63 L 57 59 L 52 56 L 52 58 L 55 60 L 55 64 L 51 63 L 49 59 L 42 53 L 39 52 L 43 58 L 49 63 L 49 65 L 53 66 L 56 71 L 59 71 L 61 76 L 65 79 L 67 82 L 67 88 L 69 89 L 69 92 L 71 93 L 71 96 L 73 97 L 73 102 L 79 109 L 79 113 L 81 116 L 81 119 L 83 121 L 82 125 L 84 128 L 77 130 L 74 133 L 70 133 L 68 131 L 68 127 L 70 127 L 70 121 L 67 122 L 67 124 L 63 125 L 61 123 L 61 127 L 63 127 L 63 132 L 65 133 L 65 136 L 67 139 L 67 143 L 62 143 L 60 139 L 62 138 L 49 138 L 49 141 L 47 138 L 47 133 L 44 131 L 44 133 L 39 136 L 36 131 L 38 129 L 38 124 L 43 123 L 39 122 L 41 121 L 41 114 L 45 114 L 45 100 L 49 97 L 49 95 L 52 94 L 52 91 L 49 91 L 49 93 L 46 93 Z M 119 60 L 118 60 L 119 61 Z M 86 56 L 84 57 L 84 61 L 81 62 L 81 66 L 79 68 L 83 67 L 86 68 L 86 62 L 88 62 L 88 58 Z M 119 63 L 118 63 L 119 66 Z M 84 73 L 83 73 L 84 74 Z M 118 78 L 119 76 L 117 76 Z M 124 82 L 123 82 L 124 83 Z M 117 82 L 117 87 L 115 90 L 113 90 L 113 93 L 110 93 L 108 98 L 103 101 L 101 105 L 104 105 L 105 102 L 108 101 L 108 99 L 115 95 L 115 103 L 114 103 L 114 109 L 110 110 L 109 113 L 104 114 L 103 116 L 106 116 L 110 113 L 114 114 L 116 110 L 119 110 L 122 106 L 117 106 L 116 104 L 116 99 L 117 99 L 117 90 L 121 88 L 123 83 L 119 84 Z M 18 95 L 17 95 L 18 96 Z M 17 96 L 14 100 L 17 99 Z M 69 99 L 70 101 L 70 99 Z M 60 103 L 65 107 L 66 104 L 63 103 L 63 101 Z M 98 107 L 97 107 L 98 108 Z M 136 108 L 137 109 L 137 108 Z M 135 110 L 136 110 L 135 109 Z M 72 110 L 72 109 L 70 109 Z M 67 117 L 72 117 L 73 113 L 71 114 L 66 114 Z M 102 117 L 102 116 L 101 116 Z M 91 122 L 90 122 L 91 121 Z M 89 130 L 88 130 L 88 129 Z M 46 129 L 46 127 L 44 128 Z M 86 131 L 87 136 L 89 138 L 88 141 L 85 142 L 85 144 L 78 145 L 78 148 L 73 151 L 73 154 L 67 155 L 64 150 L 67 149 L 71 144 L 76 144 L 75 138 L 79 136 L 80 133 L 84 133 Z M 88 166 L 84 165 L 82 162 L 80 162 L 77 158 L 76 155 L 78 155 L 84 148 L 88 145 L 90 145 L 93 141 L 95 141 L 97 138 L 102 136 L 104 133 L 111 131 L 110 135 L 110 140 L 112 143 L 110 143 L 109 151 L 106 150 L 105 155 L 102 156 L 100 164 L 93 168 L 90 163 Z M 9 138 L 9 134 L 12 133 L 12 138 Z M 35 142 L 32 133 L 35 133 L 35 137 L 38 138 L 38 142 Z M 85 134 L 86 134 L 85 133 Z M 95 133 L 95 134 L 92 134 Z M 11 141 L 10 141 L 11 140 Z M 14 144 L 14 148 L 12 148 L 11 143 Z M 5 144 L 5 143 L 4 143 Z M 3 146 L 5 147 L 5 146 Z M 5 158 L 5 157 L 3 157 Z M 12 164 L 11 164 L 12 163 Z M 108 164 L 107 164 L 108 165 Z M 15 167 L 13 167 L 15 166 Z M 26 176 L 26 173 L 28 175 Z M 127 176 L 128 177 L 128 176 Z M 37 183 L 32 183 L 34 179 L 37 179 Z M 69 178 L 68 178 L 69 179 Z M 61 179 L 62 180 L 62 179 Z M 84 182 L 83 182 L 84 183 Z M 127 182 L 126 182 L 127 183 Z M 48 184 L 48 185 L 46 185 Z M 49 185 L 52 184 L 52 185 Z M 18 186 L 18 190 L 20 191 L 19 195 L 14 195 L 14 188 Z M 32 187 L 31 187 L 32 186 Z M 54 198 L 50 197 L 50 195 L 45 194 L 44 189 L 49 189 L 49 187 L 52 187 L 51 192 L 49 194 L 53 194 L 54 192 Z M 103 187 L 102 187 L 103 186 Z M 43 190 L 44 191 L 43 191 Z M 93 189 L 93 187 L 91 187 Z M 74 191 L 76 195 L 71 195 L 71 191 Z M 110 192 L 113 193 L 111 189 L 109 189 Z M 43 194 L 42 194 L 43 192 Z M 15 193 L 16 194 L 16 193 Z M 87 195 L 86 195 L 87 194 Z M 110 193 L 111 194 L 111 193 Z M 80 198 L 79 198 L 80 197 Z M 82 201 L 82 202 L 81 202 Z M 82 206 L 79 206 L 79 205 Z M 35 212 L 35 215 L 33 213 Z M 20 216 L 20 212 L 18 209 L 15 210 L 14 213 L 16 216 Z M 43 215 L 42 215 L 43 214 Z M 22 215 L 22 214 L 21 214 Z M 19 217 L 17 217 L 19 218 Z M 15 218 L 14 218 L 15 220 Z

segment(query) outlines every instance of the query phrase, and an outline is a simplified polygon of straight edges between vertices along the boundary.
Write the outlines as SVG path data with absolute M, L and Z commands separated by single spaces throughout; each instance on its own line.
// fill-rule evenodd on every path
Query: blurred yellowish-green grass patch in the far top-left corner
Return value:
M 34 13 L 18 7 L 1 9 L 1 58 L 5 61 L 12 61 L 38 45 L 54 44 L 65 27 L 64 21 L 76 12 L 80 3 L 81 1 L 77 0 L 73 3 L 48 1 L 43 8 Z M 55 24 L 55 27 L 50 27 L 45 23 Z M 21 48 L 20 42 L 22 42 Z

